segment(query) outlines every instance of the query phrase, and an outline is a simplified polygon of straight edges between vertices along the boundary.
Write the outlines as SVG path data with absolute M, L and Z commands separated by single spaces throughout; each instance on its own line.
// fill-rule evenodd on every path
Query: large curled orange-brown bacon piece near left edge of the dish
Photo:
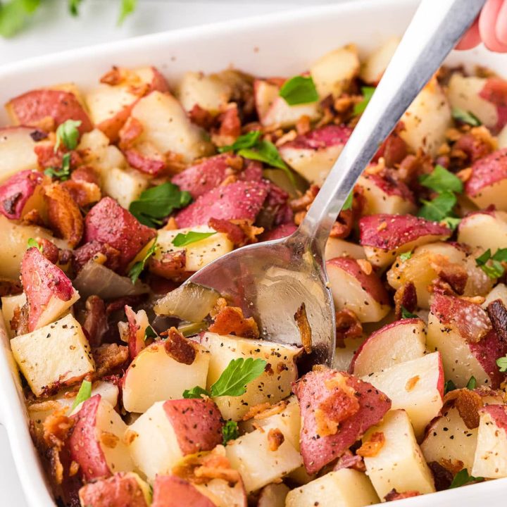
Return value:
M 84 231 L 84 220 L 79 206 L 70 193 L 58 183 L 46 185 L 44 197 L 48 205 L 50 227 L 74 248 L 81 241 Z

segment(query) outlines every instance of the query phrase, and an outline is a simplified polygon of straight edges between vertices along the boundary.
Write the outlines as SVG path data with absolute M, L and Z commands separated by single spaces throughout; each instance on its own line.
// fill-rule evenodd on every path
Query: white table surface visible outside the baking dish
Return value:
M 84 0 L 80 16 L 71 18 L 65 0 L 44 0 L 27 29 L 0 39 L 0 65 L 63 49 L 135 37 L 179 27 L 268 14 L 339 0 L 139 0 L 136 13 L 116 27 L 117 0 Z M 189 63 L 192 68 L 192 62 Z M 4 427 L 0 426 L 0 506 L 27 507 Z

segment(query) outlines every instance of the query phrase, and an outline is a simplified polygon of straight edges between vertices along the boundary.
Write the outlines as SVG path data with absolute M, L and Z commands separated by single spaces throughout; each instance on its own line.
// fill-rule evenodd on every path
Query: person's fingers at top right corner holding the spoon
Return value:
M 472 49 L 480 42 L 490 51 L 507 53 L 507 0 L 487 0 L 456 49 Z

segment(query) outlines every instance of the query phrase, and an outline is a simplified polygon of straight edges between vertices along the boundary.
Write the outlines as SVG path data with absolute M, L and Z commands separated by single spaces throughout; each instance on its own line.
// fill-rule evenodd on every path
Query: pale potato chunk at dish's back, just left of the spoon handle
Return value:
M 310 68 L 320 99 L 329 94 L 340 96 L 353 77 L 358 75 L 359 65 L 358 51 L 353 44 L 321 56 Z

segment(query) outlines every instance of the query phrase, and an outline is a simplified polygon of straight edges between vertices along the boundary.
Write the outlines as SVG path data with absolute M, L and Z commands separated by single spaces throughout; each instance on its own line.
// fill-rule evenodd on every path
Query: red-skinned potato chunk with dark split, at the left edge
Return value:
M 20 220 L 28 211 L 42 208 L 43 173 L 24 170 L 0 185 L 0 213 L 11 220 Z

